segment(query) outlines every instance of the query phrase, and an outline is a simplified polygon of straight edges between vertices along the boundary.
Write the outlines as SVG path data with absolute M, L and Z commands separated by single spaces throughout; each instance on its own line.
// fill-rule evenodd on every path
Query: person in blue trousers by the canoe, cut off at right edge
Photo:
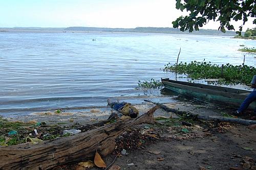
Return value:
M 251 93 L 246 97 L 244 102 L 240 105 L 240 108 L 236 111 L 236 115 L 242 115 L 243 112 L 248 108 L 248 106 L 256 101 L 256 75 L 253 76 L 251 80 Z M 256 115 L 256 108 L 254 109 L 254 115 Z

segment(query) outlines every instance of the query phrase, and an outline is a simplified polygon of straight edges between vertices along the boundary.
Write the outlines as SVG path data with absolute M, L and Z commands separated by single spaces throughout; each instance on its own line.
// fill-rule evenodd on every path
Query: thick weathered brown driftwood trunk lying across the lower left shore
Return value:
M 0 169 L 52 169 L 58 165 L 91 159 L 96 149 L 108 155 L 115 149 L 115 137 L 141 123 L 155 123 L 154 112 L 159 106 L 136 119 L 120 120 L 74 136 L 38 144 L 23 143 L 0 147 Z

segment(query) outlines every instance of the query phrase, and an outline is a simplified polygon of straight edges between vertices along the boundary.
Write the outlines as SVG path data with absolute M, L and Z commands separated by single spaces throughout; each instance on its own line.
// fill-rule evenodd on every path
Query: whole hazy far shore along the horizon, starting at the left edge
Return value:
M 121 32 L 121 33 L 158 33 L 158 34 L 191 34 L 191 35 L 212 35 L 212 36 L 236 36 L 234 31 L 222 33 L 219 30 L 204 30 L 189 33 L 188 31 L 180 32 L 174 28 L 156 28 L 156 27 L 137 27 L 131 29 L 125 28 L 98 28 L 98 27 L 68 27 L 68 28 L 40 28 L 40 27 L 14 27 L 0 28 L 0 32 Z

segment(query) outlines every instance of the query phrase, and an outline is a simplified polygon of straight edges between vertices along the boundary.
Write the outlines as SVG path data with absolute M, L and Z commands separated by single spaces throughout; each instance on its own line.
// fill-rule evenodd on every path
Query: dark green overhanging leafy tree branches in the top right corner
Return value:
M 256 0 L 176 0 L 176 8 L 190 12 L 188 16 L 180 16 L 172 22 L 174 28 L 180 27 L 180 31 L 198 31 L 209 20 L 214 20 L 220 21 L 219 30 L 225 33 L 226 29 L 234 30 L 231 19 L 243 20 L 244 25 L 248 17 L 256 17 Z M 256 19 L 253 24 L 256 24 Z M 243 25 L 237 31 L 239 35 Z

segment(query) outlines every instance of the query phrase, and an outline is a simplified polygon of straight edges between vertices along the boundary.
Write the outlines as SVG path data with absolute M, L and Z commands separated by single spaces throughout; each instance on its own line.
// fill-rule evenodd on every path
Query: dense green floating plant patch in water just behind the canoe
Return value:
M 227 63 L 223 66 L 223 75 L 221 75 L 221 66 L 211 64 L 211 62 L 179 63 L 178 65 L 170 63 L 165 65 L 165 71 L 173 71 L 178 74 L 187 74 L 189 78 L 196 79 L 220 79 L 220 83 L 225 84 L 246 84 L 250 85 L 251 79 L 256 75 L 256 68 L 247 65 L 231 65 Z

